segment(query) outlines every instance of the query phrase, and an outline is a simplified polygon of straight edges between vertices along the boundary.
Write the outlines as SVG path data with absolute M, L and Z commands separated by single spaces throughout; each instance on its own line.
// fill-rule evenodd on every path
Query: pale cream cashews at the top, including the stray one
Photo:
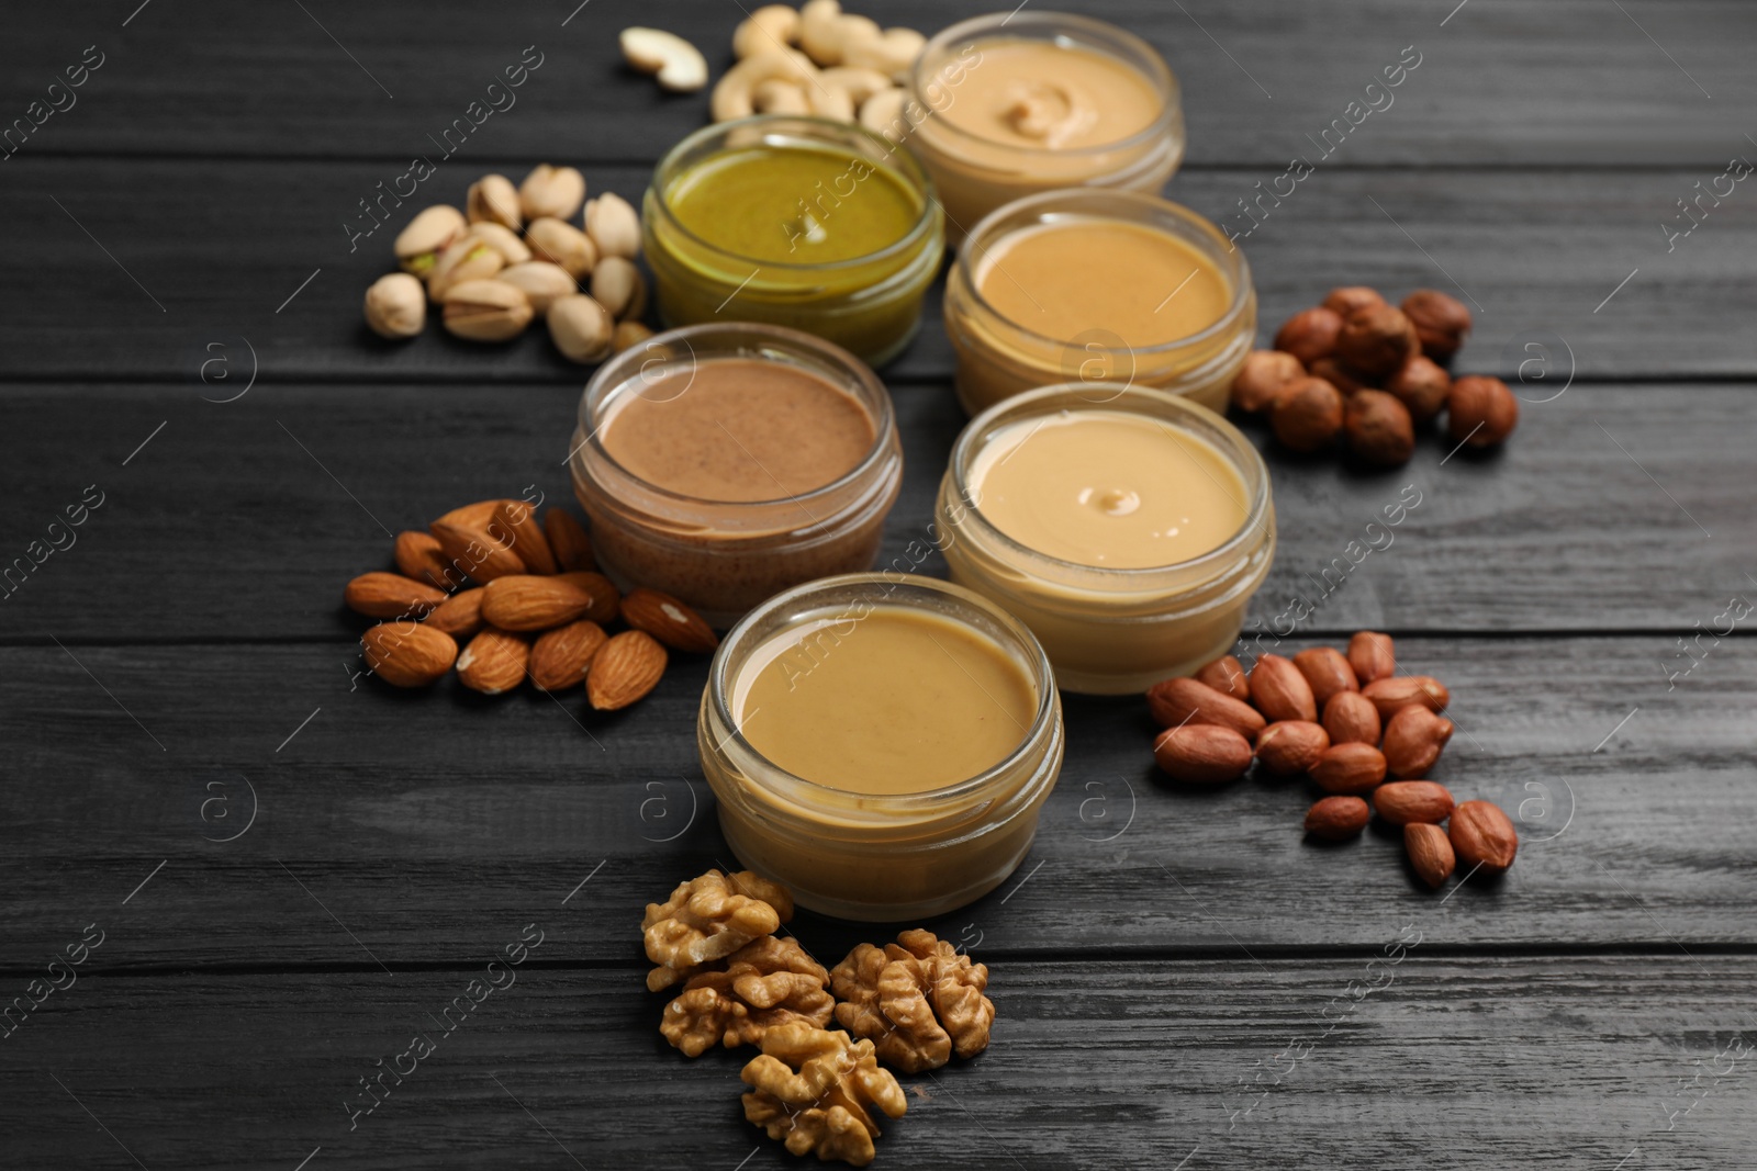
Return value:
M 713 121 L 810 114 L 886 133 L 898 123 L 908 97 L 903 84 L 926 42 L 914 28 L 880 28 L 843 12 L 838 0 L 806 0 L 801 9 L 770 4 L 733 32 L 738 63 L 713 86 Z M 675 33 L 625 28 L 622 53 L 666 90 L 706 84 L 706 60 Z

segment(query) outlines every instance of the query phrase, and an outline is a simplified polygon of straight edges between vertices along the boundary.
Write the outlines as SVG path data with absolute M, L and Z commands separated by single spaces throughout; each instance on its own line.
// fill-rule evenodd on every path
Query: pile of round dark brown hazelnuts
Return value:
M 1244 360 L 1232 402 L 1267 411 L 1293 451 L 1341 435 L 1367 463 L 1395 467 L 1414 453 L 1416 427 L 1441 411 L 1453 442 L 1493 448 L 1518 425 L 1520 402 L 1499 377 L 1446 372 L 1469 332 L 1471 311 L 1439 290 L 1418 288 L 1397 307 L 1363 284 L 1334 288 L 1288 318 L 1274 349 Z

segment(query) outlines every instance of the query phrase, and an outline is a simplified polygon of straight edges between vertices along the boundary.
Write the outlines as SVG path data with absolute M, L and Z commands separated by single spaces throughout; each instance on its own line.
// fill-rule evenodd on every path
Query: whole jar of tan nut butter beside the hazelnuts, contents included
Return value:
M 1072 381 L 1158 386 L 1214 411 L 1256 339 L 1244 253 L 1153 195 L 1074 188 L 979 223 L 945 277 L 958 400 L 975 414 Z

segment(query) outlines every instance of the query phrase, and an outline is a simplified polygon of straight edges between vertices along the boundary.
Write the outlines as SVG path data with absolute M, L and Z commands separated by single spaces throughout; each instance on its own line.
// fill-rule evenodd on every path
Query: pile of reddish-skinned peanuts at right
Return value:
M 1205 785 L 1244 776 L 1253 757 L 1276 776 L 1304 772 L 1328 794 L 1305 813 L 1305 832 L 1342 841 L 1377 811 L 1404 829 L 1428 887 L 1460 860 L 1500 874 L 1518 851 L 1508 815 L 1486 801 L 1455 804 L 1444 785 L 1421 779 L 1451 739 L 1451 720 L 1439 715 L 1451 693 L 1395 669 L 1392 637 L 1372 630 L 1355 634 L 1346 655 L 1332 646 L 1262 655 L 1249 674 L 1232 655 L 1216 658 L 1191 679 L 1147 692 L 1165 729 L 1153 757 L 1172 778 Z M 1441 829 L 1448 818 L 1450 830 Z

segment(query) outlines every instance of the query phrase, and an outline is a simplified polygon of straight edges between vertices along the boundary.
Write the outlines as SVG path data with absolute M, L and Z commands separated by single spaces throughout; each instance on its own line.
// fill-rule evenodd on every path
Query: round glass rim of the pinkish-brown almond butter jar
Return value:
M 708 355 L 698 355 L 694 339 L 724 334 L 727 339 L 743 339 L 757 342 L 752 346 L 741 346 L 733 342 L 720 342 L 715 351 Z M 703 356 L 708 358 L 757 358 L 766 362 L 777 362 L 782 348 L 794 348 L 810 351 L 812 356 L 836 369 L 854 381 L 864 397 L 854 397 L 861 409 L 873 425 L 873 442 L 861 456 L 861 462 L 850 467 L 847 472 L 831 479 L 829 483 L 819 485 L 810 492 L 798 492 L 792 495 L 782 495 L 770 500 L 713 500 L 710 497 L 694 497 L 664 485 L 655 485 L 650 479 L 636 476 L 633 471 L 624 467 L 610 449 L 604 446 L 603 432 L 604 421 L 597 416 L 603 413 L 601 407 L 608 402 L 618 390 L 627 386 L 643 376 L 645 367 L 654 358 L 647 358 L 652 346 L 682 342 L 689 349 L 689 360 L 698 362 Z M 763 344 L 770 342 L 770 344 Z M 805 367 L 801 367 L 805 369 Z M 687 388 L 685 388 L 687 390 Z M 594 402 L 594 395 L 597 400 Z M 682 506 L 699 506 L 713 509 L 759 509 L 775 507 L 777 504 L 798 504 L 810 516 L 806 507 L 813 500 L 835 495 L 850 485 L 871 476 L 873 467 L 884 462 L 891 455 L 891 437 L 896 430 L 896 407 L 891 402 L 891 392 L 878 379 L 870 365 L 861 362 L 856 355 L 843 349 L 842 346 L 817 337 L 815 334 L 806 334 L 803 330 L 787 328 L 784 325 L 764 325 L 759 321 L 705 321 L 701 325 L 685 325 L 675 330 L 666 330 L 662 334 L 654 334 L 645 342 L 624 349 L 620 355 L 611 356 L 592 374 L 590 381 L 585 384 L 585 392 L 580 395 L 580 411 L 576 427 L 585 432 L 585 439 L 575 442 L 573 453 L 568 456 L 568 463 L 580 458 L 585 448 L 590 448 L 597 456 L 601 456 L 610 467 L 613 467 L 620 476 L 625 476 L 631 483 L 638 485 L 645 492 L 652 492 L 662 500 L 669 500 Z M 817 520 L 817 518 L 813 518 Z

